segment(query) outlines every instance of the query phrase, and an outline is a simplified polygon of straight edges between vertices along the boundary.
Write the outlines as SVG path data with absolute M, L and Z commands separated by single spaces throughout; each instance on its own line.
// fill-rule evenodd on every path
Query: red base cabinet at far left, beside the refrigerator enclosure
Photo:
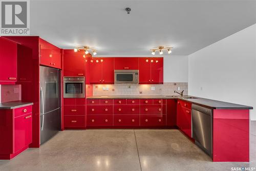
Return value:
M 32 106 L 0 110 L 0 159 L 12 159 L 32 142 Z

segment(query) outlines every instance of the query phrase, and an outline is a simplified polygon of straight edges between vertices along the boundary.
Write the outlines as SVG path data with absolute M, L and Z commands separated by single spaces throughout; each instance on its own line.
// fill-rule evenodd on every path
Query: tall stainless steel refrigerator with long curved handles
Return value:
M 40 144 L 60 130 L 60 71 L 40 66 Z

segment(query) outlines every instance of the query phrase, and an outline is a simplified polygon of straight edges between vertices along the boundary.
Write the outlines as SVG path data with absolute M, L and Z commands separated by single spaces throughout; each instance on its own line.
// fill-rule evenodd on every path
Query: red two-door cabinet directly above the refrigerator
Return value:
M 61 69 L 60 49 L 39 38 L 40 65 Z

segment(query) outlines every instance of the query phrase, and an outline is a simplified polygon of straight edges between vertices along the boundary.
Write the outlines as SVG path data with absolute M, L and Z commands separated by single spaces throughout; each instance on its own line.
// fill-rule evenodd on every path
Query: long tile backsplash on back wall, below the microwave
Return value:
M 93 84 L 93 95 L 178 95 L 174 93 L 175 90 L 184 90 L 184 95 L 187 95 L 187 89 L 187 82 L 164 82 L 163 84 Z

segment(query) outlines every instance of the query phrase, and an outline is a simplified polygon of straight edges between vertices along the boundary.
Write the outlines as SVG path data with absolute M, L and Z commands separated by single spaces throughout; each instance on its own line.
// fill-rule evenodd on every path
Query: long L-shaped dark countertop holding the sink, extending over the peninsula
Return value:
M 192 98 L 187 98 L 192 97 Z M 87 99 L 127 99 L 127 98 L 161 98 L 161 99 L 181 99 L 184 101 L 188 101 L 193 104 L 205 106 L 206 108 L 211 109 L 253 109 L 252 106 L 247 105 L 241 105 L 241 104 L 235 104 L 235 103 L 229 103 L 224 101 L 218 101 L 218 100 L 211 100 L 201 97 L 194 97 L 194 96 L 184 96 L 184 98 L 181 98 L 180 96 L 90 96 L 87 97 Z

